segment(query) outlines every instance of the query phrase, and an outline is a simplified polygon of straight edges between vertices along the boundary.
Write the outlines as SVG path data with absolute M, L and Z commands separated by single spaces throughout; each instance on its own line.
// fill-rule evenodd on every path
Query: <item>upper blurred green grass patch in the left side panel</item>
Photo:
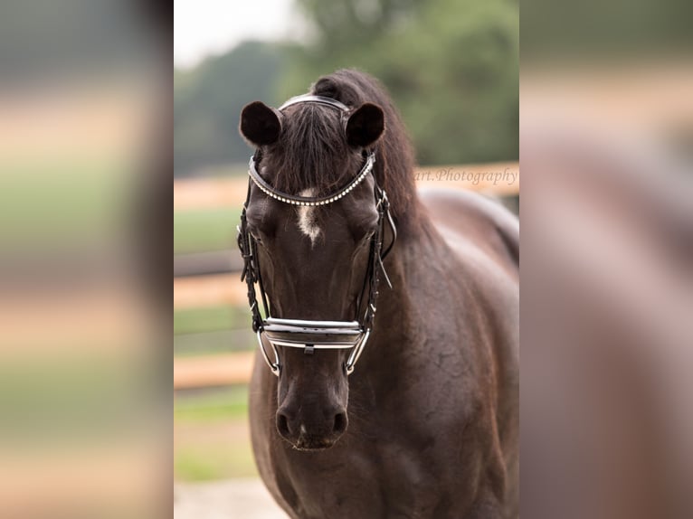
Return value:
M 132 212 L 127 172 L 123 164 L 77 158 L 0 160 L 3 250 L 64 250 L 117 240 Z

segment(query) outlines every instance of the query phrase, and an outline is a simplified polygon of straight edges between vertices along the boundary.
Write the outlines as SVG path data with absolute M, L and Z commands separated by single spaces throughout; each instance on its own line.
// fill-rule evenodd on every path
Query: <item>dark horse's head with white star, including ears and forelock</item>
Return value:
M 315 96 L 281 109 L 258 101 L 242 110 L 240 130 L 257 150 L 242 232 L 271 315 L 258 314 L 256 327 L 261 348 L 270 347 L 264 332 L 277 355 L 277 429 L 295 448 L 329 448 L 346 431 L 349 359 L 364 339 L 374 237 L 382 239 L 368 174 L 384 112 Z M 313 335 L 291 347 L 301 330 Z M 354 342 L 340 343 L 336 330 Z

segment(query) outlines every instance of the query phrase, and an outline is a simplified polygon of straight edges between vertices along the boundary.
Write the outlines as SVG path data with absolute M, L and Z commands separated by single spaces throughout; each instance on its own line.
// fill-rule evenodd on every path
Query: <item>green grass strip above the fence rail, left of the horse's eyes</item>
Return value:
M 174 212 L 174 254 L 232 249 L 241 208 Z

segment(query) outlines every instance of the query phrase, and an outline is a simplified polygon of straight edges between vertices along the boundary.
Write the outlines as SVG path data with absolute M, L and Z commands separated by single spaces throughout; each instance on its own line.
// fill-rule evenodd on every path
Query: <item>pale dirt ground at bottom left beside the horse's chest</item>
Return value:
M 260 479 L 174 487 L 174 519 L 287 519 Z

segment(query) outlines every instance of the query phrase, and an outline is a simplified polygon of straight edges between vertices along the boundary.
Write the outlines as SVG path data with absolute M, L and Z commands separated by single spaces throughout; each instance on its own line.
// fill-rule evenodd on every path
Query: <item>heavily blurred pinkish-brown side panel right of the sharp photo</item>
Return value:
M 693 516 L 692 8 L 522 5 L 525 517 Z

